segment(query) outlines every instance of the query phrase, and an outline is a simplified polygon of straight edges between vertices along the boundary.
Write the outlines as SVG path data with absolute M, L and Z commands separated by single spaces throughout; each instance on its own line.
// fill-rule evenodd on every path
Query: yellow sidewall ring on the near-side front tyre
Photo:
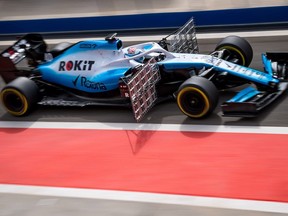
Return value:
M 205 108 L 203 110 L 202 113 L 198 114 L 198 115 L 191 115 L 190 113 L 187 113 L 185 111 L 185 109 L 182 107 L 181 103 L 180 103 L 180 98 L 182 97 L 183 94 L 187 93 L 187 92 L 197 92 L 198 94 L 200 94 L 203 99 L 204 99 L 204 103 L 205 103 Z M 180 92 L 178 93 L 177 95 L 177 104 L 180 108 L 180 110 L 187 116 L 191 117 L 191 118 L 201 118 L 203 117 L 208 111 L 209 111 L 209 108 L 210 108 L 210 102 L 209 102 L 209 99 L 208 97 L 206 96 L 206 94 L 201 91 L 200 89 L 198 88 L 195 88 L 195 87 L 192 87 L 192 86 L 189 86 L 189 87 L 185 87 L 183 89 L 180 90 Z

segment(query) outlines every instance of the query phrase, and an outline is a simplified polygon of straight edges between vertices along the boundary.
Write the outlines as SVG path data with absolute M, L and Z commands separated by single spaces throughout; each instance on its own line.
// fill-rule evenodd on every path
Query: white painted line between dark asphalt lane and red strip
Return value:
M 145 123 L 98 123 L 98 122 L 26 122 L 0 121 L 0 128 L 42 128 L 42 129 L 93 129 L 93 130 L 148 130 L 187 131 L 252 134 L 288 134 L 288 127 L 226 126 L 188 124 L 145 124 Z

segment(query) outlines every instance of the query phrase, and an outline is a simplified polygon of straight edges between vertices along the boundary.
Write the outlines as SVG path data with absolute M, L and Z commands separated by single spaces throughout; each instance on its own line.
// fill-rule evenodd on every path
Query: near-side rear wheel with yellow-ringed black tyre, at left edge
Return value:
M 34 81 L 18 77 L 2 89 L 0 99 L 10 114 L 24 116 L 35 108 L 39 101 L 39 88 Z

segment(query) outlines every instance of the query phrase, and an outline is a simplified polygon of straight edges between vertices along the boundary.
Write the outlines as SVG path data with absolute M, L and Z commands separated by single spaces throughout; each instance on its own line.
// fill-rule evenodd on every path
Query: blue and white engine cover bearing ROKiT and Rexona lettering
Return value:
M 42 74 L 43 80 L 68 88 L 91 93 L 117 89 L 120 77 L 130 67 L 105 68 L 109 61 L 117 60 L 117 58 L 108 59 L 106 60 L 108 63 L 103 63 L 106 58 L 105 55 L 102 57 L 101 53 L 113 55 L 113 52 L 118 50 L 118 42 L 119 40 L 114 42 L 95 40 L 76 43 L 52 61 L 39 65 L 37 70 Z M 72 69 L 67 69 L 69 61 L 73 63 Z M 78 67 L 75 66 L 76 62 Z M 90 65 L 89 62 L 91 62 Z

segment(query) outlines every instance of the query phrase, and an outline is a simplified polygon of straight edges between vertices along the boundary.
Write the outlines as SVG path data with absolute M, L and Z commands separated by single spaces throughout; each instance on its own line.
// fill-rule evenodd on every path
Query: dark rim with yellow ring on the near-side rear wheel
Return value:
M 4 89 L 1 92 L 1 100 L 7 111 L 15 116 L 21 116 L 28 110 L 26 97 L 16 89 Z

